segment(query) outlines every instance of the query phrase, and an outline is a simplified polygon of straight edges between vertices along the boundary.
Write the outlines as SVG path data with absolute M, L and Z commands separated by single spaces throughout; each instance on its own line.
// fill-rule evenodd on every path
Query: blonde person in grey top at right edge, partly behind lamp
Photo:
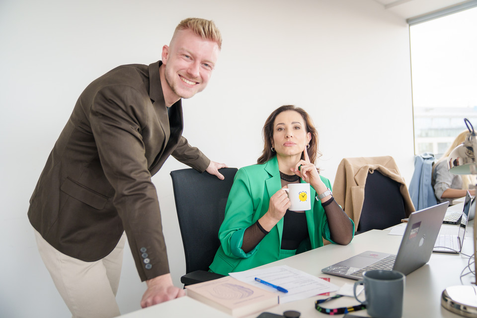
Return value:
M 453 199 L 465 197 L 469 186 L 472 187 L 475 184 L 471 181 L 471 176 L 454 174 L 447 168 L 447 158 L 450 153 L 466 140 L 468 134 L 468 130 L 460 133 L 444 155 L 434 163 L 431 183 L 439 203 L 449 201 L 452 204 Z M 470 189 L 469 193 L 475 196 L 476 190 Z

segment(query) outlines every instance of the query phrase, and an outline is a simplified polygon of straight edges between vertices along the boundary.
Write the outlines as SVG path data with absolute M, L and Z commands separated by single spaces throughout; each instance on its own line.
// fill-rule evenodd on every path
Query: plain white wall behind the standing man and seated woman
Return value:
M 292 4 L 293 3 L 293 4 Z M 413 171 L 408 27 L 373 0 L 2 0 L 0 2 L 0 317 L 68 317 L 26 212 L 48 154 L 83 88 L 115 66 L 160 58 L 175 25 L 213 19 L 224 43 L 209 87 L 184 100 L 184 136 L 230 166 L 256 162 L 261 128 L 293 103 L 320 133 L 333 181 L 344 157 L 393 156 Z M 169 171 L 153 177 L 174 282 L 185 271 Z M 118 302 L 140 308 L 126 250 Z

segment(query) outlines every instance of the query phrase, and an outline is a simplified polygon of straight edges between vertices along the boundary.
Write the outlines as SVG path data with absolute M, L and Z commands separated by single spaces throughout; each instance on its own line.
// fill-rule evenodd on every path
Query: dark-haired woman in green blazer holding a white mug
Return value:
M 336 203 L 331 183 L 315 166 L 318 133 L 308 113 L 285 105 L 263 127 L 264 148 L 257 164 L 240 168 L 219 230 L 221 246 L 210 270 L 228 275 L 323 245 L 346 245 L 354 223 Z M 289 211 L 284 188 L 311 185 L 311 210 Z M 324 196 L 323 196 L 324 195 Z

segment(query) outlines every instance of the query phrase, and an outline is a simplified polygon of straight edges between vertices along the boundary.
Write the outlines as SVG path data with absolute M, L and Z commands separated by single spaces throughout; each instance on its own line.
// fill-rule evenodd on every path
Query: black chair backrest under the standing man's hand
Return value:
M 209 270 L 220 246 L 219 228 L 237 168 L 222 168 L 219 172 L 225 180 L 192 168 L 170 172 L 186 273 Z

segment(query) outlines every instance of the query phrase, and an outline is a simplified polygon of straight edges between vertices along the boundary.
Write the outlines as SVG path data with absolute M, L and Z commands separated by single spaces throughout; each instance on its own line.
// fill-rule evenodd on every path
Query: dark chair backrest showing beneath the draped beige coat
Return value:
M 406 213 L 399 187 L 398 182 L 377 170 L 368 173 L 358 233 L 373 229 L 384 230 L 401 223 Z

